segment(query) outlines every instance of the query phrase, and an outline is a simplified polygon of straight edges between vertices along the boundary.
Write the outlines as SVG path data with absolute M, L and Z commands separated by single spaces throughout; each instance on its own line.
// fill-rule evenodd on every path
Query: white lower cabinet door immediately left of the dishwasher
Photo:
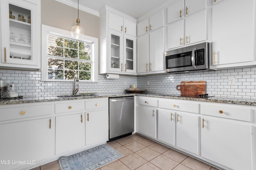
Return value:
M 108 110 L 88 111 L 85 120 L 86 145 L 108 141 Z

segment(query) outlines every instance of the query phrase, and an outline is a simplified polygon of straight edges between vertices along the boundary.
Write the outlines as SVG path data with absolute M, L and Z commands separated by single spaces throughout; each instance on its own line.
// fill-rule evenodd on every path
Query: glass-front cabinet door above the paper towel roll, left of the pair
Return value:
M 108 71 L 123 72 L 123 34 L 109 30 Z

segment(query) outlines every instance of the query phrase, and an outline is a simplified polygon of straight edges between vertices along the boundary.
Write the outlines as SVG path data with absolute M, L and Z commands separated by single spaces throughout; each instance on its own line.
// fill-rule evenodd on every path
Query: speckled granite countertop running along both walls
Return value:
M 243 102 L 235 101 L 236 99 L 227 99 L 220 97 L 209 97 L 209 98 L 189 98 L 189 97 L 178 97 L 178 96 L 166 96 L 166 94 L 155 94 L 155 93 L 108 93 L 101 94 L 98 93 L 97 96 L 81 96 L 81 97 L 68 97 L 59 98 L 57 96 L 52 97 L 24 97 L 18 99 L 0 99 L 0 105 L 7 104 L 23 104 L 23 103 L 34 103 L 34 102 L 55 102 L 64 100 L 80 100 L 80 99 L 92 99 L 92 98 L 109 98 L 109 97 L 122 97 L 122 96 L 146 96 L 146 97 L 156 97 L 156 98 L 168 98 L 168 99 L 179 99 L 179 100 L 193 100 L 200 102 L 215 102 L 215 103 L 226 103 L 226 104 L 242 104 L 256 106 L 256 101 Z

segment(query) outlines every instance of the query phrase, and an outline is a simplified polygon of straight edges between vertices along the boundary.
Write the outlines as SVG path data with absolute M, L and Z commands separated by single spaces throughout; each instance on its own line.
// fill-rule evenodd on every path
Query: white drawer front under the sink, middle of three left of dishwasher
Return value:
M 69 102 L 55 104 L 55 113 L 68 113 L 84 110 L 84 102 Z

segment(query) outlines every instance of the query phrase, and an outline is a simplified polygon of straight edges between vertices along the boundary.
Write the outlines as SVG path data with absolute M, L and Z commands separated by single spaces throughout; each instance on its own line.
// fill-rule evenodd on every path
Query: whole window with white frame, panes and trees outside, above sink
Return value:
M 42 80 L 97 81 L 98 39 L 74 39 L 70 31 L 42 25 Z

